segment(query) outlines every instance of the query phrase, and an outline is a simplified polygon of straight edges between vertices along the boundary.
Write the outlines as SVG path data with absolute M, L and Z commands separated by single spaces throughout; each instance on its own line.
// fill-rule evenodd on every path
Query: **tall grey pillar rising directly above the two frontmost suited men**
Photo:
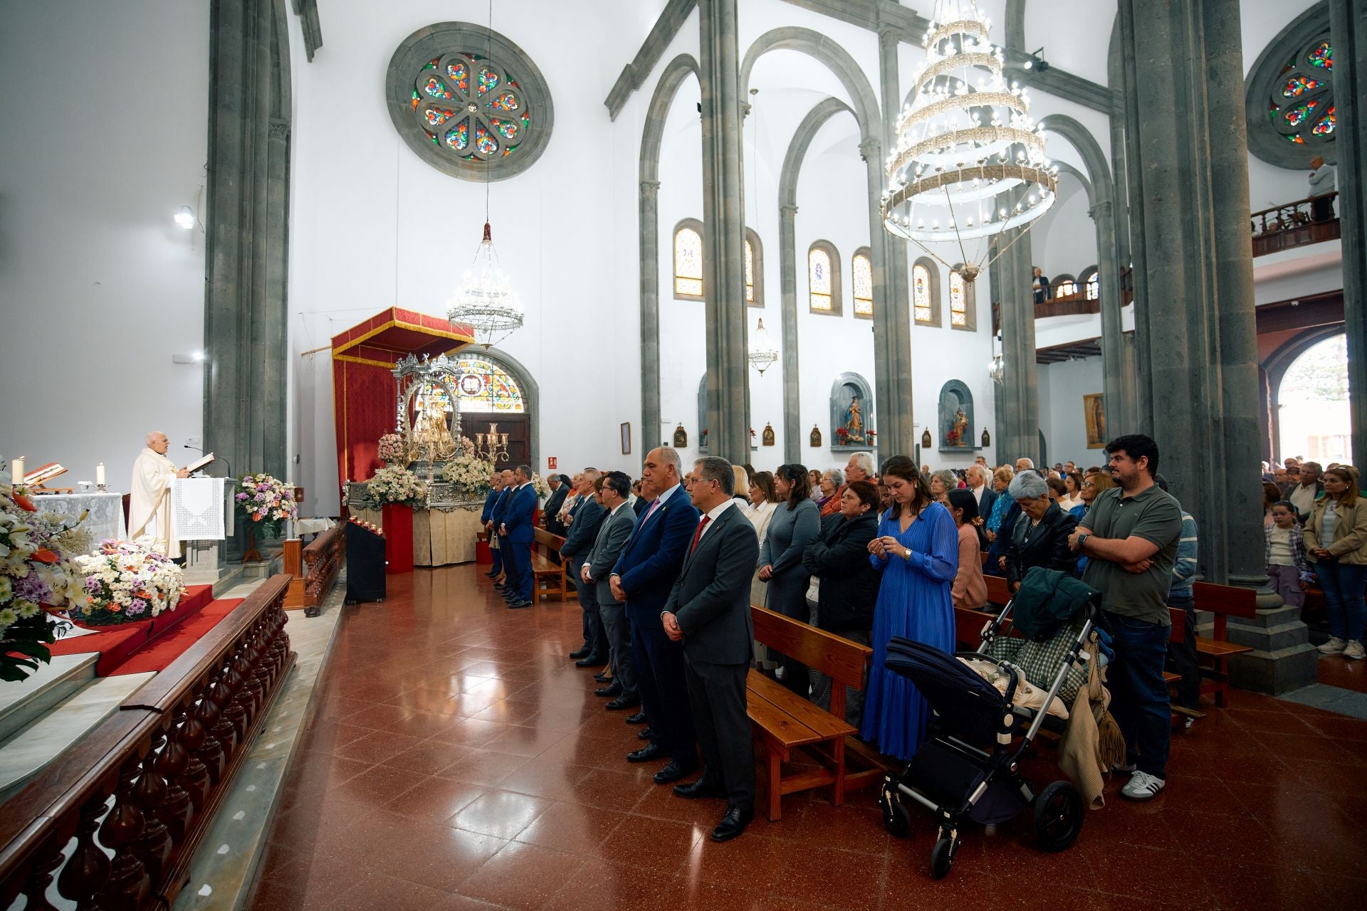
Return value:
M 708 448 L 712 455 L 740 463 L 750 459 L 750 384 L 735 0 L 699 0 L 697 5 L 701 22 Z

